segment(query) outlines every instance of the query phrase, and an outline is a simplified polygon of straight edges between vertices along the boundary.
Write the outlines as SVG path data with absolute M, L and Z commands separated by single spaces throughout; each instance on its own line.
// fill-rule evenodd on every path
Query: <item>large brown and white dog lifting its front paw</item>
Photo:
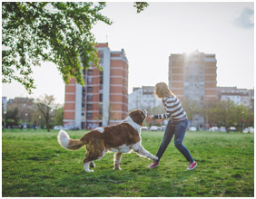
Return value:
M 90 170 L 89 166 L 94 167 L 93 161 L 101 159 L 108 151 L 115 152 L 114 169 L 121 170 L 122 154 L 129 153 L 132 150 L 139 156 L 149 157 L 152 160 L 158 159 L 157 156 L 153 156 L 142 146 L 141 128 L 146 117 L 146 110 L 136 109 L 131 111 L 120 124 L 95 128 L 80 139 L 71 139 L 64 130 L 61 130 L 58 141 L 62 147 L 70 150 L 85 145 L 84 170 L 86 172 L 94 172 L 94 170 Z

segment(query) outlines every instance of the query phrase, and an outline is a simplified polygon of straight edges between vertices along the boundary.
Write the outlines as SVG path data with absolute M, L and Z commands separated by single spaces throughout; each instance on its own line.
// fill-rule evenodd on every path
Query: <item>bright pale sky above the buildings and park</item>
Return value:
M 141 14 L 132 2 L 107 3 L 102 11 L 112 25 L 98 23 L 97 43 L 112 51 L 124 50 L 129 61 L 128 93 L 133 87 L 168 83 L 171 53 L 214 53 L 217 86 L 254 87 L 254 3 L 149 2 Z M 64 81 L 54 63 L 34 69 L 37 87 L 29 95 L 16 82 L 2 84 L 2 96 L 38 98 L 54 95 L 64 103 Z

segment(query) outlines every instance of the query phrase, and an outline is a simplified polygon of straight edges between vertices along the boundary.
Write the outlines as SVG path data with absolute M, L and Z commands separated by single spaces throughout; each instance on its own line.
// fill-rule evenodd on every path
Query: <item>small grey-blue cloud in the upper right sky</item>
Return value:
M 254 10 L 251 8 L 244 8 L 239 17 L 234 19 L 233 24 L 244 29 L 251 29 L 254 27 Z

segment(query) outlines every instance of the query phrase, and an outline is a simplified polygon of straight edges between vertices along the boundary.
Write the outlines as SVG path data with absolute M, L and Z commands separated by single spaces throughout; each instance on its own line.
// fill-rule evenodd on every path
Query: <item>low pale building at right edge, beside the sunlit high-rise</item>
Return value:
M 236 87 L 217 87 L 219 100 L 231 100 L 237 105 L 254 108 L 254 90 L 237 89 Z

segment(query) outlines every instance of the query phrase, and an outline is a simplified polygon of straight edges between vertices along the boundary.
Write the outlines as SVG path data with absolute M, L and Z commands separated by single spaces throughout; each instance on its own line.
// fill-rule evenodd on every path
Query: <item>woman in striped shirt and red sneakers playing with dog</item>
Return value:
M 186 112 L 182 109 L 182 104 L 180 100 L 172 93 L 168 88 L 167 84 L 164 82 L 157 83 L 154 88 L 155 95 L 162 99 L 164 109 L 166 113 L 160 115 L 151 115 L 148 117 L 148 122 L 150 123 L 155 118 L 170 118 L 167 127 L 162 138 L 161 146 L 158 149 L 156 156 L 158 160 L 154 161 L 150 168 L 159 166 L 159 161 L 169 143 L 174 135 L 174 145 L 182 153 L 183 156 L 189 162 L 188 170 L 192 170 L 197 166 L 196 162 L 193 160 L 190 152 L 186 147 L 182 145 L 182 140 L 185 136 L 186 129 L 188 127 L 188 119 Z

